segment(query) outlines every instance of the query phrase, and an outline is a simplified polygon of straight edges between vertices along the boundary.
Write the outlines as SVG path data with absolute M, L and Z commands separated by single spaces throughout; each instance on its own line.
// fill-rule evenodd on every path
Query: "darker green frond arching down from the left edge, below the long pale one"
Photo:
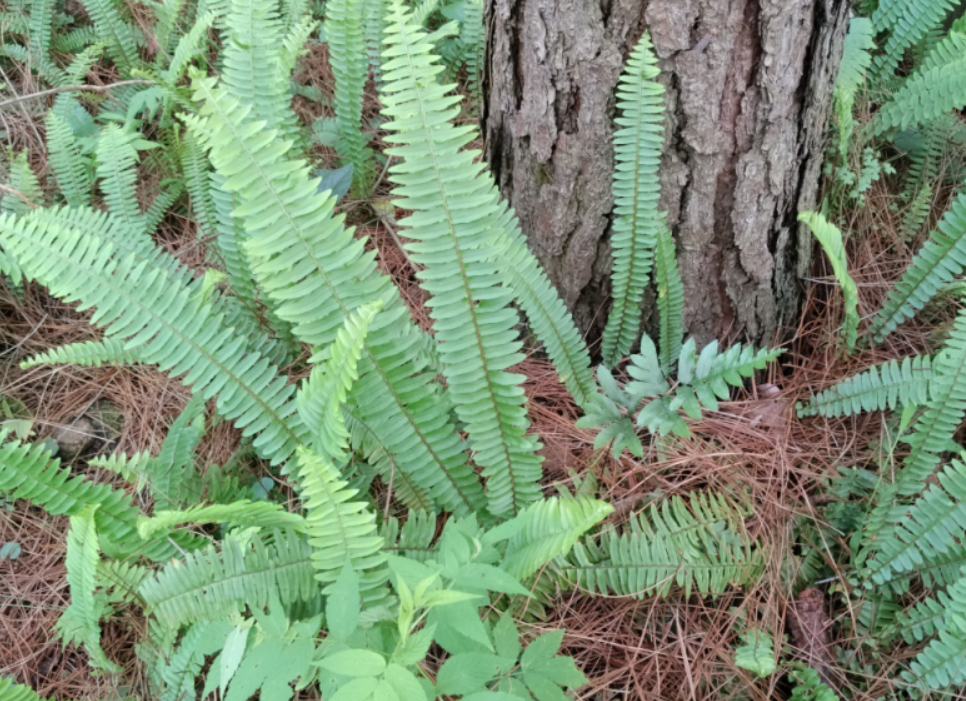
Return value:
M 97 507 L 94 519 L 104 552 L 124 558 L 144 555 L 165 560 L 177 552 L 167 541 L 144 543 L 137 534 L 138 510 L 124 493 L 107 485 L 71 475 L 44 447 L 14 442 L 0 445 L 0 492 L 13 499 L 26 499 L 55 516 L 76 516 Z M 182 545 L 196 547 L 194 539 Z

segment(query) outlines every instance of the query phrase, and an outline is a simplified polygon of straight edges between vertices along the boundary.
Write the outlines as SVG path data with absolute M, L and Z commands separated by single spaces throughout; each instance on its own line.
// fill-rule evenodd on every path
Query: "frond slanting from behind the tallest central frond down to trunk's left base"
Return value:
M 527 247 L 520 221 L 506 202 L 500 202 L 498 238 L 491 243 L 497 252 L 503 284 L 526 315 L 537 338 L 567 385 L 570 396 L 584 407 L 597 394 L 590 352 L 556 288 L 536 256 Z

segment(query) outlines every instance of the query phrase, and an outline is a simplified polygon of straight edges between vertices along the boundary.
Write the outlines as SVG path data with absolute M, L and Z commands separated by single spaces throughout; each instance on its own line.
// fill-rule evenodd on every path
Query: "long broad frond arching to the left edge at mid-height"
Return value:
M 117 260 L 110 244 L 55 223 L 0 218 L 0 242 L 52 294 L 95 307 L 92 323 L 109 327 L 128 346 L 144 344 L 144 362 L 183 375 L 205 400 L 218 395 L 219 413 L 244 435 L 258 434 L 254 445 L 266 459 L 284 462 L 305 436 L 293 388 L 222 326 L 223 315 L 194 302 L 190 288 L 168 284 L 162 271 L 133 255 Z

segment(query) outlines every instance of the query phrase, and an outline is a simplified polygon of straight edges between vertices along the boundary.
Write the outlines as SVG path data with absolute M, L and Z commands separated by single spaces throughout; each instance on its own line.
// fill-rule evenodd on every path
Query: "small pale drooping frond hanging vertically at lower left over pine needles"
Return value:
M 95 669 L 118 673 L 121 668 L 107 659 L 101 647 L 101 606 L 95 603 L 97 565 L 100 560 L 97 527 L 94 513 L 97 507 L 88 507 L 70 517 L 67 531 L 67 584 L 70 588 L 70 605 L 64 610 L 55 626 L 64 644 L 82 643 L 87 650 L 90 664 Z

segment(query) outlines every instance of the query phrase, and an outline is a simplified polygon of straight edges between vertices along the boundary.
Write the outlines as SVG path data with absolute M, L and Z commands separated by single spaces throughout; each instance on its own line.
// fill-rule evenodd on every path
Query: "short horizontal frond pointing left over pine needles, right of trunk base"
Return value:
M 835 418 L 864 411 L 885 411 L 925 404 L 935 377 L 932 356 L 917 355 L 873 365 L 798 406 L 799 416 Z

